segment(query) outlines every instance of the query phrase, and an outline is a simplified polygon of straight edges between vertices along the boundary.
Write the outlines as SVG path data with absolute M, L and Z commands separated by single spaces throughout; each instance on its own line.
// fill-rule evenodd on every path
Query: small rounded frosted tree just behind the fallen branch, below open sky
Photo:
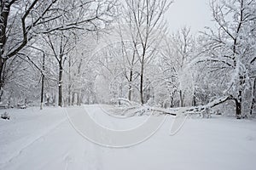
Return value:
M 172 83 L 172 88 L 176 88 L 179 95 L 179 106 L 184 106 L 183 87 L 186 82 L 182 80 L 183 71 L 195 50 L 195 40 L 190 33 L 190 28 L 184 26 L 177 33 L 166 39 L 166 46 L 162 51 L 162 62 L 165 65 L 164 72 L 166 81 Z

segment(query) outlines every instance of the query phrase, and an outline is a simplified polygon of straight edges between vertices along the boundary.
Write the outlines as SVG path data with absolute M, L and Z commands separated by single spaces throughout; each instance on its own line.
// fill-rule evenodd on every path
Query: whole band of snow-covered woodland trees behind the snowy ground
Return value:
M 212 0 L 214 26 L 196 33 L 168 29 L 172 3 L 1 0 L 0 107 L 148 105 L 253 116 L 256 1 Z

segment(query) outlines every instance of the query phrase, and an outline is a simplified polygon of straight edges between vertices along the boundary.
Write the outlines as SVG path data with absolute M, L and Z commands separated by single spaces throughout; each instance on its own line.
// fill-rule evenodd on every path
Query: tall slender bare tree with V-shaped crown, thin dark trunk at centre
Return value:
M 167 0 L 126 0 L 129 25 L 131 26 L 132 41 L 141 64 L 140 71 L 140 100 L 143 99 L 143 78 L 145 65 L 154 56 L 161 35 L 164 35 L 165 22 L 163 14 L 172 2 Z M 160 34 L 162 33 L 162 34 Z

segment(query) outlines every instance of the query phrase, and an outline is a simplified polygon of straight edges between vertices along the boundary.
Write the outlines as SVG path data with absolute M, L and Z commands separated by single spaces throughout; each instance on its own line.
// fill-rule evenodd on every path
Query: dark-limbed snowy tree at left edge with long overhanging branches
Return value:
M 109 0 L 1 1 L 0 88 L 4 85 L 4 63 L 27 48 L 39 34 L 73 29 L 95 31 L 113 20 L 115 4 Z

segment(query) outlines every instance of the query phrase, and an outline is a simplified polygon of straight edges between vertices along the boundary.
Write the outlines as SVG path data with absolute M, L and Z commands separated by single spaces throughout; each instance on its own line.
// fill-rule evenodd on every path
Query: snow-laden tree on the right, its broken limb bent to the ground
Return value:
M 252 88 L 255 56 L 255 1 L 212 1 L 212 18 L 218 31 L 203 32 L 201 57 L 197 62 L 215 65 L 215 73 L 222 71 L 227 82 L 224 94 L 235 101 L 236 116 L 241 117 L 246 104 L 247 89 Z M 230 73 L 230 74 L 227 74 Z M 216 77 L 217 78 L 217 77 Z

